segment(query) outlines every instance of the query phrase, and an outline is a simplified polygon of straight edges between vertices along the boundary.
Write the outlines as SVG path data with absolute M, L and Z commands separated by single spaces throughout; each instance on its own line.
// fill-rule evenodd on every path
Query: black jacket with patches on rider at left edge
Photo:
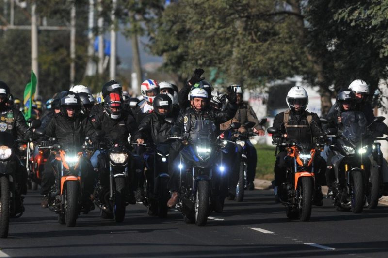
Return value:
M 0 111 L 0 131 L 10 133 L 13 137 L 30 137 L 31 131 L 27 131 L 27 122 L 23 114 L 12 108 L 6 108 Z M 27 133 L 26 133 L 27 132 Z

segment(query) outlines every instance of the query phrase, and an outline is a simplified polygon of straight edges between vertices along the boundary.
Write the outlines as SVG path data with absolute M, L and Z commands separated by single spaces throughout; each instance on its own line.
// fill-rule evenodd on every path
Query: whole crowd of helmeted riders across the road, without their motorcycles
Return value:
M 85 194 L 83 198 L 89 204 L 88 209 L 94 209 L 94 192 L 98 181 L 107 184 L 108 179 L 103 176 L 104 161 L 108 159 L 107 148 L 104 141 L 96 132 L 103 132 L 103 138 L 112 142 L 120 142 L 126 145 L 131 153 L 129 170 L 132 173 L 126 201 L 135 204 L 142 201 L 139 188 L 142 182 L 151 173 L 144 173 L 145 162 L 153 163 L 154 156 L 152 148 L 160 143 L 170 144 L 168 166 L 170 180 L 168 190 L 171 198 L 167 202 L 168 207 L 174 207 L 179 199 L 179 166 L 189 167 L 188 161 L 180 157 L 185 143 L 182 141 L 171 141 L 169 137 L 178 137 L 182 134 L 190 135 L 196 130 L 198 121 L 208 121 L 214 125 L 214 135 L 219 136 L 232 123 L 240 123 L 234 130 L 246 133 L 249 128 L 244 124 L 253 122 L 252 132 L 264 136 L 264 130 L 259 124 L 255 112 L 247 102 L 242 101 L 243 90 L 237 84 L 227 87 L 226 93 L 214 91 L 212 85 L 201 77 L 204 71 L 195 69 L 193 76 L 187 81 L 184 87 L 178 91 L 176 85 L 169 82 L 158 83 L 148 79 L 141 84 L 142 100 L 130 96 L 123 91 L 122 86 L 111 80 L 102 86 L 103 102 L 96 103 L 95 97 L 90 89 L 83 85 L 75 85 L 69 91 L 62 91 L 46 103 L 35 103 L 33 106 L 34 116 L 42 121 L 39 130 L 44 131 L 44 136 L 37 137 L 29 130 L 21 108 L 21 102 L 12 97 L 10 88 L 6 83 L 0 82 L 0 131 L 9 132 L 15 138 L 33 140 L 38 146 L 61 145 L 63 148 L 71 146 L 82 146 L 86 143 L 93 146 L 94 153 L 91 158 L 82 161 L 83 169 L 87 170 L 87 177 L 83 179 Z M 333 105 L 327 115 L 328 124 L 321 125 L 317 114 L 307 111 L 307 91 L 302 87 L 293 87 L 288 92 L 287 104 L 289 109 L 276 115 L 273 127 L 278 129 L 273 134 L 273 140 L 279 144 L 287 140 L 296 140 L 304 143 L 315 143 L 328 141 L 325 129 L 330 127 L 341 130 L 341 113 L 349 110 L 363 112 L 368 123 L 374 119 L 372 106 L 367 101 L 369 86 L 362 80 L 353 81 L 348 89 L 338 92 L 337 102 Z M 387 126 L 381 123 L 378 130 L 382 134 L 388 134 Z M 287 137 L 285 137 L 287 136 Z M 225 136 L 226 137 L 226 136 Z M 233 136 L 230 136 L 231 138 Z M 135 143 L 135 144 L 129 144 Z M 34 154 L 37 153 L 38 147 Z M 247 188 L 254 189 L 254 178 L 257 166 L 257 153 L 255 147 L 247 142 Z M 274 173 L 275 187 L 279 187 L 285 180 L 287 151 L 284 147 L 279 148 L 276 156 Z M 237 158 L 236 158 L 237 156 Z M 322 156 L 322 157 L 321 157 Z M 329 187 L 328 195 L 332 193 L 334 172 L 332 169 L 331 152 L 326 145 L 321 156 L 315 160 L 314 204 L 322 205 L 323 194 L 321 186 Z M 17 156 L 16 156 L 17 157 Z M 230 148 L 226 152 L 226 167 L 230 174 L 238 170 L 241 150 Z M 41 194 L 43 195 L 41 206 L 47 208 L 49 203 L 48 194 L 55 182 L 52 162 L 56 154 L 50 154 L 43 171 L 41 182 Z M 23 197 L 27 188 L 27 171 L 20 160 L 15 161 L 16 183 L 17 183 L 17 213 L 23 212 Z M 152 169 L 152 168 L 148 168 Z M 383 162 L 384 194 L 388 194 L 388 167 Z M 149 171 L 148 171 L 149 172 Z M 145 176 L 146 175 L 146 176 Z M 222 199 L 228 197 L 233 199 L 236 195 L 234 176 L 230 176 L 226 186 L 226 194 L 220 191 L 215 193 L 214 211 L 221 212 Z M 217 178 L 214 178 L 217 181 Z M 139 195 L 137 193 L 140 193 Z M 276 196 L 278 199 L 278 196 Z

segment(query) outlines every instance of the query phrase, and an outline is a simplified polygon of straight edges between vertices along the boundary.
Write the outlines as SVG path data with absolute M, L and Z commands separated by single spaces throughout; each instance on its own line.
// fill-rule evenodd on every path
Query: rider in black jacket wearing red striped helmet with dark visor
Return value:
M 137 123 L 128 110 L 123 109 L 123 97 L 116 92 L 111 92 L 105 97 L 104 111 L 96 114 L 92 118 L 92 125 L 95 130 L 102 130 L 105 133 L 104 138 L 112 142 L 127 143 L 128 136 L 134 135 L 137 130 Z M 92 139 L 97 151 L 90 159 L 94 168 L 98 168 L 98 162 L 101 158 L 107 159 L 107 151 L 99 150 L 99 140 Z M 135 204 L 136 200 L 133 191 L 129 192 L 129 203 Z

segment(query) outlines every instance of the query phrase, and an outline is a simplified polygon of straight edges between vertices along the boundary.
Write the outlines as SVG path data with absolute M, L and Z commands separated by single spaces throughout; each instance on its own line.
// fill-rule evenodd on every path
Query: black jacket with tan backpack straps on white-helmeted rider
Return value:
M 311 124 L 308 124 L 307 116 L 312 116 Z M 302 125 L 304 127 L 285 127 L 284 124 L 284 112 L 281 112 L 275 116 L 274 124 L 279 130 L 280 134 L 287 134 L 288 139 L 296 140 L 300 143 L 313 143 L 314 137 L 318 138 L 322 134 L 321 121 L 318 115 L 304 111 L 300 115 L 290 110 L 288 125 Z M 273 138 L 280 137 L 280 134 L 272 135 Z

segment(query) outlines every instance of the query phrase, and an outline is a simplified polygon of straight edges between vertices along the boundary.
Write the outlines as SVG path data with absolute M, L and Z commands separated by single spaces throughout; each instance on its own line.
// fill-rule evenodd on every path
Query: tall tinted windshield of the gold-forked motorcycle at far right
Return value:
M 367 132 L 367 120 L 364 113 L 347 111 L 341 114 L 343 131 L 342 135 L 355 143 L 361 140 Z

